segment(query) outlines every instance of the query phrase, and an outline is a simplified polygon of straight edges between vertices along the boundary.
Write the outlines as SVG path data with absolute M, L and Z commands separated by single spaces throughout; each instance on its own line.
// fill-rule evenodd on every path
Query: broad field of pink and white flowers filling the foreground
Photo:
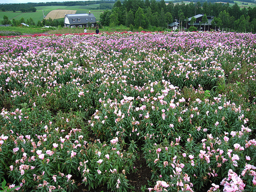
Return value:
M 0 38 L 2 189 L 256 191 L 255 75 L 249 33 Z

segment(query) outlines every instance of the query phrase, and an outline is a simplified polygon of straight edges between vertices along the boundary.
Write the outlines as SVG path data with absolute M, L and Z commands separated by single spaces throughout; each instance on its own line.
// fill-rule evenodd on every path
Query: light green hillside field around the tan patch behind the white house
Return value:
M 61 9 L 61 10 L 75 10 L 77 14 L 79 13 L 91 13 L 94 14 L 96 17 L 96 20 L 99 20 L 99 15 L 103 10 L 91 10 L 90 8 L 96 8 L 98 7 L 99 4 L 95 5 L 90 5 L 90 6 L 39 6 L 36 7 L 37 11 L 36 12 L 29 12 L 29 13 L 22 13 L 22 12 L 11 12 L 11 11 L 6 11 L 6 12 L 0 12 L 0 22 L 3 20 L 4 15 L 8 16 L 10 20 L 13 18 L 19 20 L 20 18 L 24 18 L 25 21 L 29 19 L 30 17 L 33 18 L 34 22 L 37 23 L 38 20 L 42 20 L 42 10 L 44 10 L 45 16 L 50 13 L 53 10 Z

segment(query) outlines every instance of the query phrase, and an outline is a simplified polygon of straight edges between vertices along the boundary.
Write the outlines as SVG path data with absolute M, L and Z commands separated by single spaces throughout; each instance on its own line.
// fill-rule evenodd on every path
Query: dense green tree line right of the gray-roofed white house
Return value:
M 230 6 L 229 3 L 169 2 L 166 5 L 164 0 L 124 0 L 122 3 L 118 0 L 111 10 L 100 14 L 100 22 L 103 26 L 163 30 L 174 21 L 186 27 L 188 18 L 197 14 L 215 16 L 214 28 L 256 32 L 256 7 L 240 9 L 237 3 Z

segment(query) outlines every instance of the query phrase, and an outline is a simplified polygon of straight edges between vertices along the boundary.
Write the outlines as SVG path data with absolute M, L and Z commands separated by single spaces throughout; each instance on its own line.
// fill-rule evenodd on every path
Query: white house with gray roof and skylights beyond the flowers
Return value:
M 64 18 L 65 27 L 75 28 L 75 27 L 95 27 L 96 17 L 89 12 L 83 14 L 67 14 Z M 91 26 L 89 26 L 89 24 Z

